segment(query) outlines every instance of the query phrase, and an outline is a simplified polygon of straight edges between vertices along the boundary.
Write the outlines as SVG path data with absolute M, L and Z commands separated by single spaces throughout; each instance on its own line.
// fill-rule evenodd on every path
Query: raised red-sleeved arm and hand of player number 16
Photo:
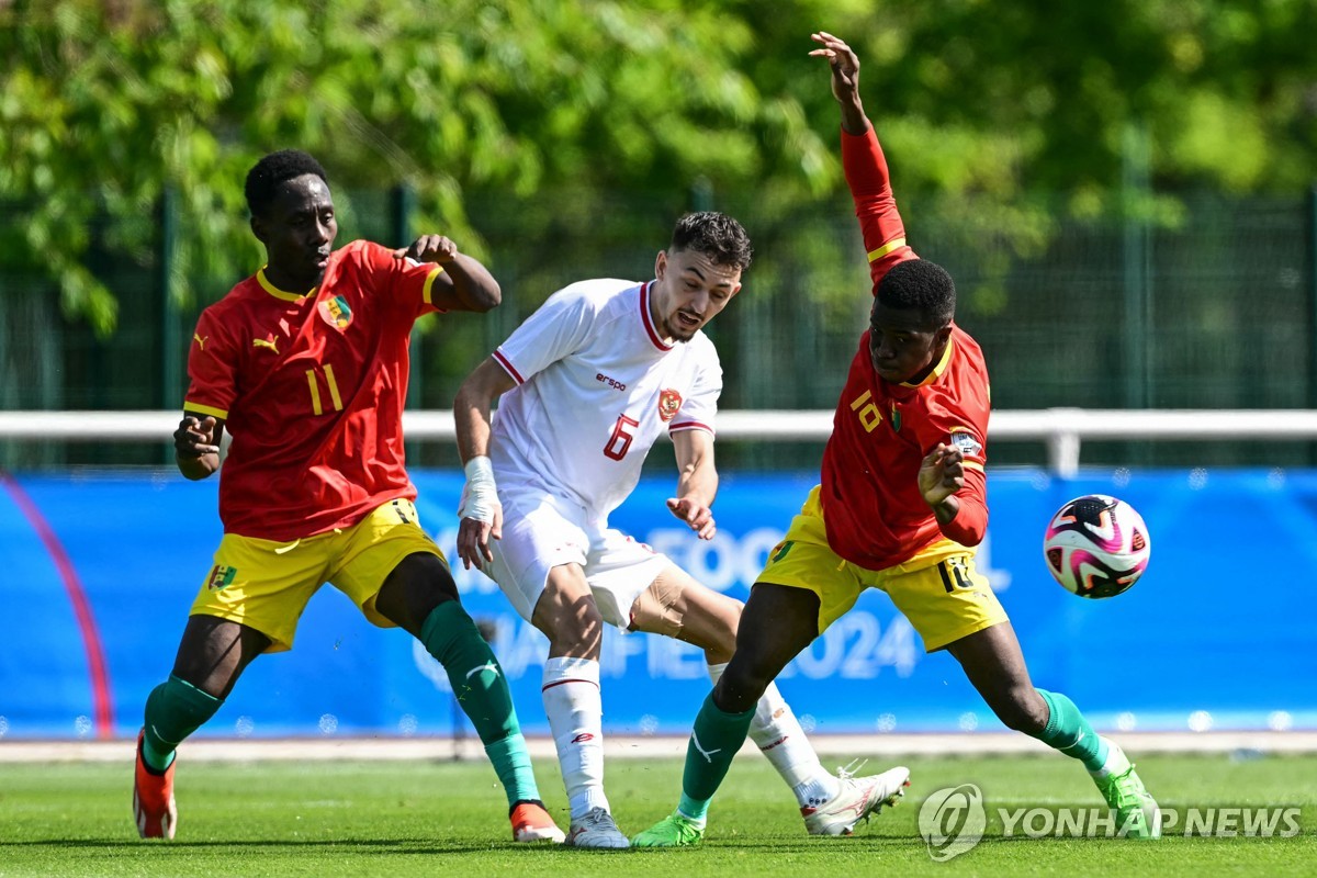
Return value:
M 873 288 L 898 262 L 918 258 L 906 246 L 905 224 L 897 211 L 888 176 L 888 159 L 864 115 L 860 100 L 860 59 L 844 41 L 830 33 L 810 34 L 819 43 L 810 55 L 827 58 L 832 71 L 832 96 L 842 109 L 842 166 L 855 200 L 855 216 L 864 233 Z

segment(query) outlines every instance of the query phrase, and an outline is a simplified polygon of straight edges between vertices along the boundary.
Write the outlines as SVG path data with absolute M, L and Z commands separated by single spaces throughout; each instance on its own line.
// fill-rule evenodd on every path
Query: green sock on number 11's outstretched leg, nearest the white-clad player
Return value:
M 445 600 L 425 617 L 420 641 L 448 673 L 457 703 L 475 727 L 485 753 L 503 782 L 508 804 L 539 799 L 512 694 L 503 669 L 475 623 L 460 603 Z

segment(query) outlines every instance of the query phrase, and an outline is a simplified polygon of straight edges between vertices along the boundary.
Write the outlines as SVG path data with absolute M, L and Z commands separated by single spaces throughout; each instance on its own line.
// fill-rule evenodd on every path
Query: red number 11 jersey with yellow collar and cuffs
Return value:
M 353 241 L 304 296 L 262 269 L 202 312 L 183 408 L 224 420 L 233 437 L 220 467 L 227 533 L 286 542 L 415 499 L 403 461 L 408 350 L 416 317 L 436 311 L 441 271 Z

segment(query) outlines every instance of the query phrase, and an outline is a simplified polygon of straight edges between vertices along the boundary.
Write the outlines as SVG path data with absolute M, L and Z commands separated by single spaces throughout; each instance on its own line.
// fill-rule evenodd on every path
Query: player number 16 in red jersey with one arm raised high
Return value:
M 1006 612 L 975 570 L 988 528 L 982 353 L 954 323 L 951 276 L 906 245 L 860 101 L 859 59 L 831 34 L 811 38 L 842 107 L 842 162 L 873 278 L 869 329 L 838 401 L 823 482 L 770 553 L 741 611 L 736 653 L 695 717 L 677 811 L 632 844 L 699 842 L 764 687 L 865 588 L 885 591 L 928 652 L 950 652 L 1009 728 L 1080 760 L 1126 835 L 1155 837 L 1156 803 L 1134 766 L 1073 702 L 1034 688 Z M 838 817 L 849 832 L 900 794 Z

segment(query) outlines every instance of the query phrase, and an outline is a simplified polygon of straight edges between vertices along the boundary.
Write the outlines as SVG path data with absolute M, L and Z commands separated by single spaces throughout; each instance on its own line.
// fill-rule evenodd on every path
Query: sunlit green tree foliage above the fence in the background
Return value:
M 151 259 L 170 187 L 178 295 L 241 276 L 242 178 L 283 146 L 336 184 L 408 182 L 417 225 L 477 251 L 473 191 L 698 184 L 789 221 L 840 186 L 815 29 L 860 51 L 902 188 L 1000 211 L 1017 251 L 1046 236 L 1026 191 L 1127 205 L 1131 128 L 1159 187 L 1292 191 L 1317 161 L 1312 0 L 43 0 L 0 26 L 0 200 L 22 211 L 0 265 L 101 332 L 92 237 Z

